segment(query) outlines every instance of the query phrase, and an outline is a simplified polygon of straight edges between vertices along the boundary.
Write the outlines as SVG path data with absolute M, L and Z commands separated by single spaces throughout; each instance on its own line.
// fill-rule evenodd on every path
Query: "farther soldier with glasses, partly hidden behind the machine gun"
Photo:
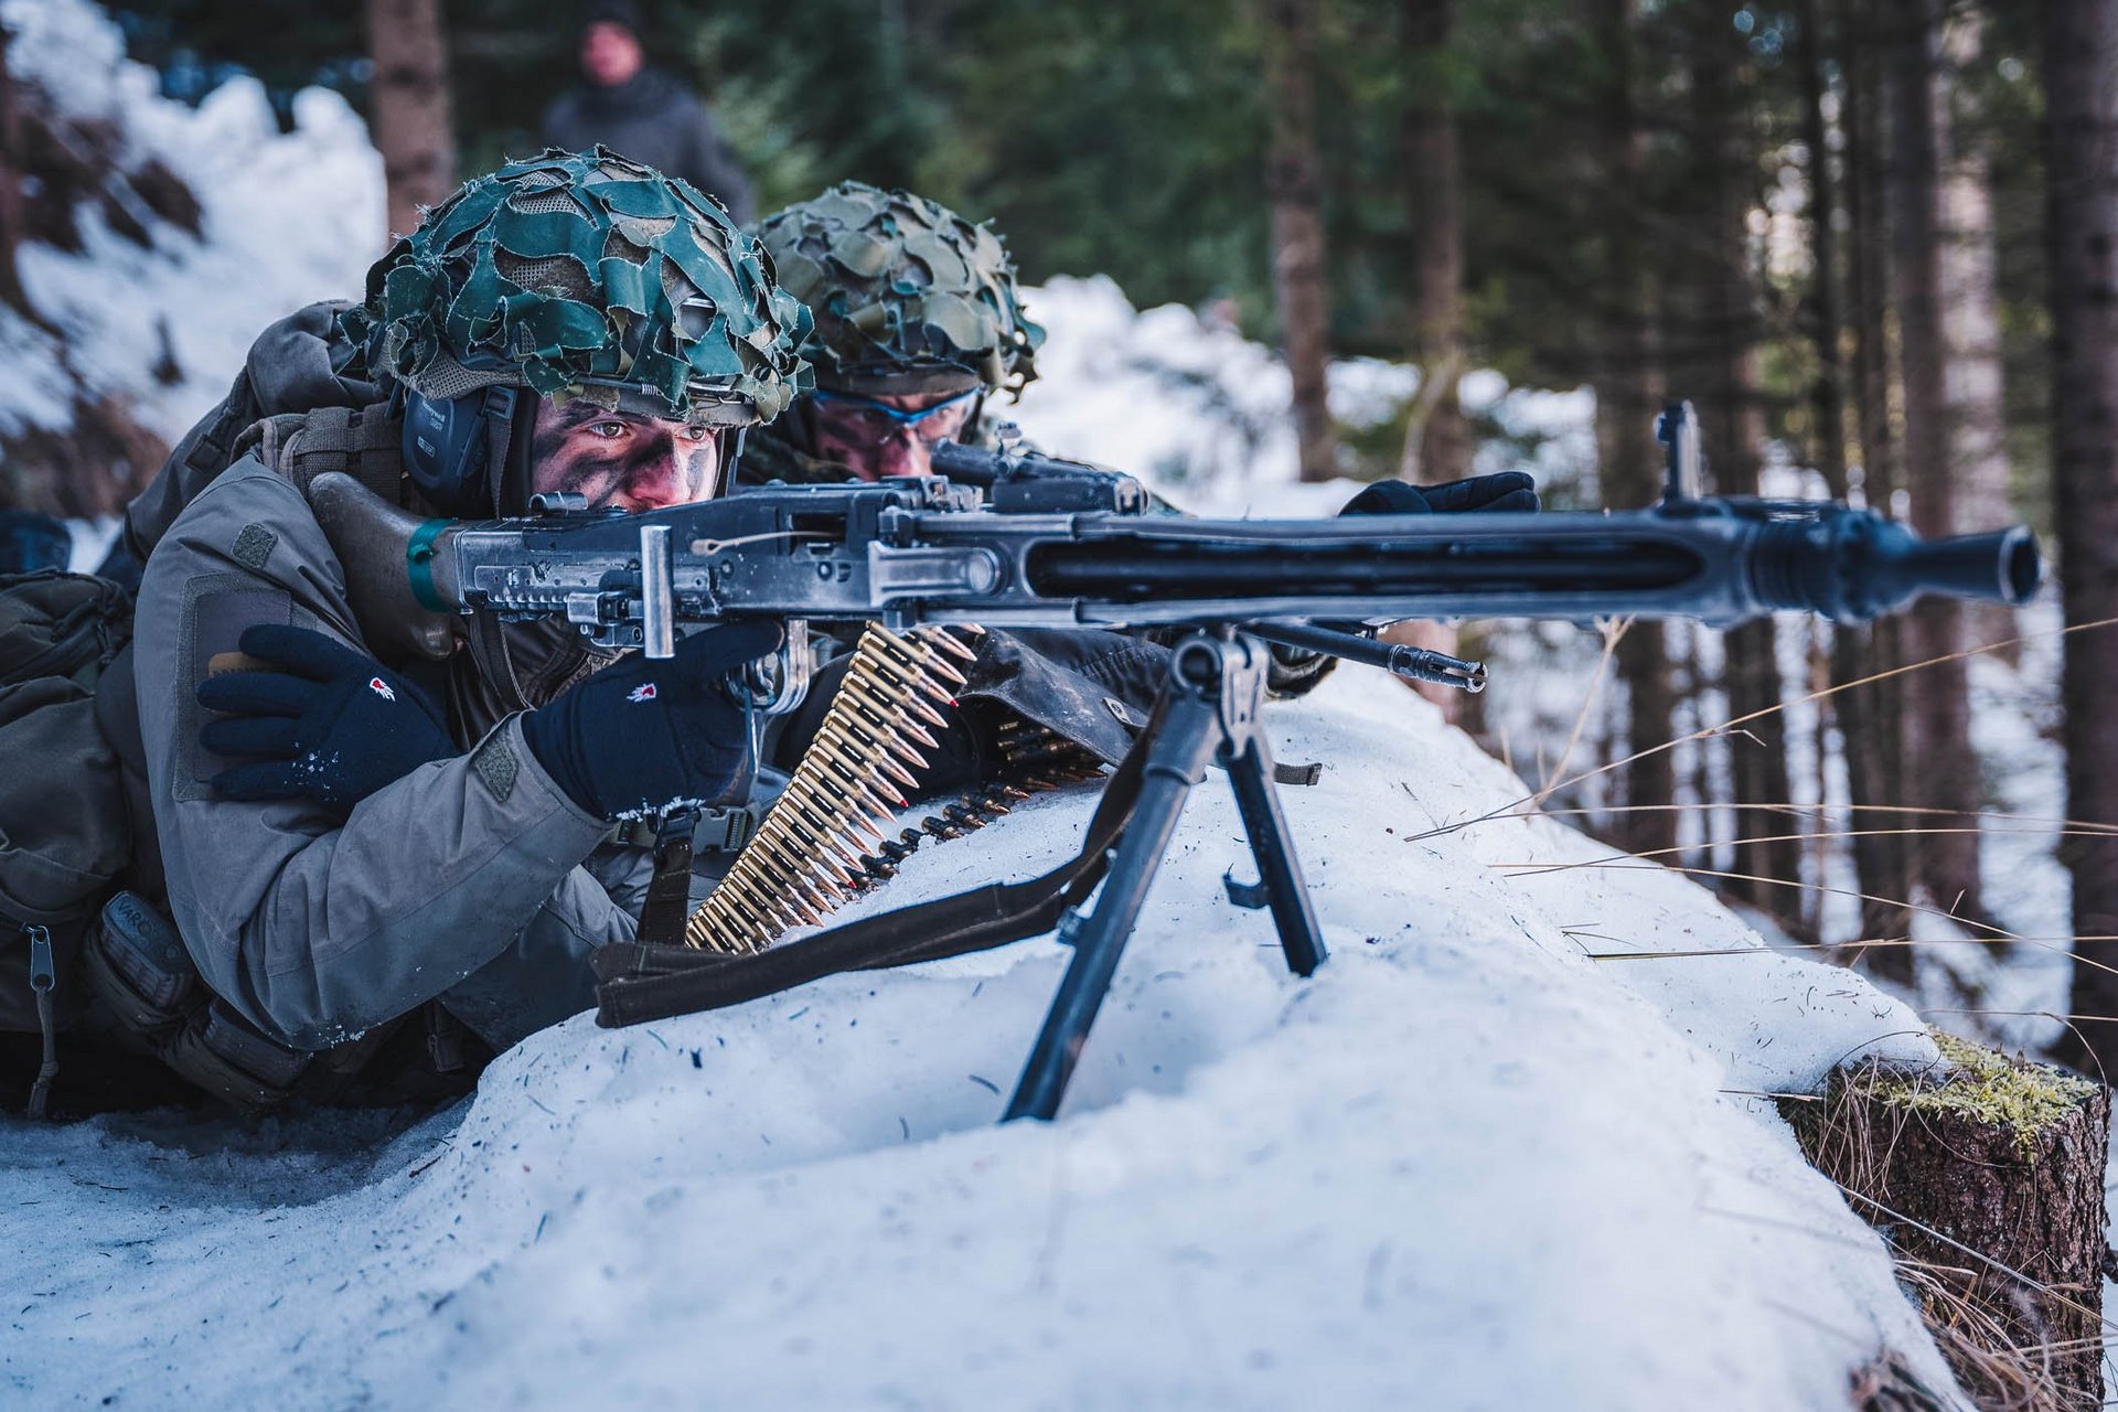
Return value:
M 839 182 L 767 216 L 758 239 L 782 288 L 809 305 L 805 354 L 815 387 L 786 417 L 750 434 L 743 485 L 815 485 L 934 474 L 945 440 L 993 449 L 1000 400 L 1036 381 L 1044 328 L 1023 307 L 1015 263 L 987 224 L 907 191 Z M 1017 440 L 1017 438 L 1010 438 Z M 1521 472 L 1447 487 L 1377 483 L 1349 512 L 1533 510 Z M 1027 720 L 1103 762 L 1116 762 L 1167 677 L 1167 633 L 1021 629 L 987 633 L 957 690 L 930 790 L 968 788 L 1000 768 L 995 741 Z M 1311 690 L 1332 658 L 1273 646 L 1269 690 Z M 830 699 L 820 677 L 805 713 L 775 741 L 798 758 Z

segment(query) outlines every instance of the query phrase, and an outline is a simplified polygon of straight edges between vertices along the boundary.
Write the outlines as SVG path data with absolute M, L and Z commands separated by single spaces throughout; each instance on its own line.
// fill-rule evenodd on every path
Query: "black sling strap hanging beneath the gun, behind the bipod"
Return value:
M 1150 741 L 1152 726 L 1139 735 Z M 839 972 L 875 972 L 991 951 L 1059 925 L 1087 902 L 1110 866 L 1110 849 L 1133 817 L 1146 762 L 1142 743 L 1103 785 L 1080 853 L 1023 883 L 987 883 L 949 898 L 862 917 L 807 940 L 756 955 L 650 942 L 612 944 L 593 955 L 595 1022 L 606 1029 L 724 1010 Z

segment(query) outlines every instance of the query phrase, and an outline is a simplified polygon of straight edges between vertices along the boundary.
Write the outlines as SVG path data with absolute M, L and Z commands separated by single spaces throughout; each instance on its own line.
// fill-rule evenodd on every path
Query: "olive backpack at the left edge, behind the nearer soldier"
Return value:
M 85 1003 L 89 919 L 131 862 L 119 756 L 95 682 L 131 639 L 131 597 L 89 574 L 0 576 L 0 1031 L 53 1035 Z

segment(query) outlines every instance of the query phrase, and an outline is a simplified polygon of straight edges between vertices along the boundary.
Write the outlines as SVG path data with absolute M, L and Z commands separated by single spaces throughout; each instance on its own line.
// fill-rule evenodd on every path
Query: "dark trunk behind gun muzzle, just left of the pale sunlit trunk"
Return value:
M 1847 17 L 1841 36 L 1845 70 L 1847 169 L 1847 298 L 1853 324 L 1851 387 L 1860 436 L 1860 487 L 1868 504 L 1885 514 L 1900 483 L 1898 447 L 1889 423 L 1889 330 L 1885 320 L 1887 239 L 1883 233 L 1883 163 L 1877 135 L 1881 114 L 1881 66 L 1874 44 L 1874 4 L 1862 0 Z M 1849 474 L 1851 481 L 1851 474 Z M 1832 644 L 1832 677 L 1857 682 L 1896 667 L 1900 656 L 1900 622 L 1883 618 L 1866 627 L 1838 627 Z M 1902 726 L 1904 694 L 1900 680 L 1872 682 L 1845 696 L 1857 696 L 1855 711 L 1874 722 L 1864 739 L 1847 730 L 1847 771 L 1860 775 L 1851 785 L 1855 804 L 1906 804 Z M 1887 830 L 1913 821 L 1913 815 L 1860 815 L 1864 830 Z M 1862 936 L 1870 940 L 1908 938 L 1913 912 L 1904 904 L 1913 895 L 1913 853 L 1902 834 L 1874 834 L 1853 840 L 1853 868 L 1862 900 Z M 1864 957 L 1866 970 L 1910 984 L 1913 948 L 1879 946 Z

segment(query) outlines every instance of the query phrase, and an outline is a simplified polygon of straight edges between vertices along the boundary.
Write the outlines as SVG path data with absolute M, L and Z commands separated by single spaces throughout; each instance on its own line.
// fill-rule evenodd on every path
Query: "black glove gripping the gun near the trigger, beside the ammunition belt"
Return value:
M 530 754 L 568 796 L 604 819 L 705 804 L 735 781 L 743 713 L 720 680 L 779 648 L 777 622 L 693 633 L 676 656 L 633 654 L 523 718 Z

